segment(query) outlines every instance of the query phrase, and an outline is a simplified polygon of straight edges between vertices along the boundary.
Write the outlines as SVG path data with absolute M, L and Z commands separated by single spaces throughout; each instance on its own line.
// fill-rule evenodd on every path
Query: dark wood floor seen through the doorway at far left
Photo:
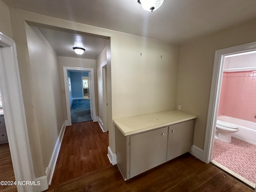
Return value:
M 0 144 L 0 181 L 15 181 L 9 144 Z M 16 186 L 2 186 L 1 192 L 16 192 Z

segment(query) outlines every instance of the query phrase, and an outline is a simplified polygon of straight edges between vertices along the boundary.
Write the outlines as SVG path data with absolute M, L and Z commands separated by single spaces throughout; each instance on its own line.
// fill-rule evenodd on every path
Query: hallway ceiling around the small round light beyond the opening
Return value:
M 38 27 L 40 32 L 58 54 L 58 56 L 96 59 L 97 56 L 106 47 L 106 39 L 76 34 L 76 32 L 64 32 Z M 84 54 L 78 55 L 73 47 L 82 47 Z

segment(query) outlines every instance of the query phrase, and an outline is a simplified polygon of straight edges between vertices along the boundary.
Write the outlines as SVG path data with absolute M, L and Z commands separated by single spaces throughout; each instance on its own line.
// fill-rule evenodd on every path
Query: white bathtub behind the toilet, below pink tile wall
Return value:
M 256 123 L 224 115 L 218 116 L 218 119 L 238 126 L 239 131 L 232 133 L 232 137 L 256 145 Z

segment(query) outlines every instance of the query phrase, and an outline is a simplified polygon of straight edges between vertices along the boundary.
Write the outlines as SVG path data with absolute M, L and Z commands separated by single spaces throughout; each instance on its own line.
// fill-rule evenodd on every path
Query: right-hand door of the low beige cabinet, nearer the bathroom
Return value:
M 194 136 L 194 120 L 168 127 L 167 161 L 189 152 Z

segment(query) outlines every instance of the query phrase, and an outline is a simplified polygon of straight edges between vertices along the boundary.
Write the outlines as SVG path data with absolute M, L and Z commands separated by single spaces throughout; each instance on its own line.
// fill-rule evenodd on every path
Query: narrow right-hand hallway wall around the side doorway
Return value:
M 107 48 L 105 47 L 99 56 L 96 58 L 96 70 L 97 70 L 97 84 L 98 84 L 98 116 L 102 119 L 102 74 L 100 65 L 107 60 Z

